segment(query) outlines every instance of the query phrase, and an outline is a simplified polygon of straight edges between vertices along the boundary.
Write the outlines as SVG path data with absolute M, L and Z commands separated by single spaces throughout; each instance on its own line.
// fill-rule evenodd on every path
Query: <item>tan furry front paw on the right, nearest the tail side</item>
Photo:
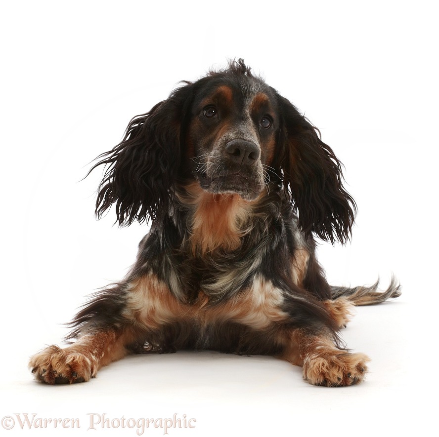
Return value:
M 304 379 L 310 384 L 345 387 L 358 384 L 367 371 L 364 354 L 326 349 L 309 355 L 303 365 Z

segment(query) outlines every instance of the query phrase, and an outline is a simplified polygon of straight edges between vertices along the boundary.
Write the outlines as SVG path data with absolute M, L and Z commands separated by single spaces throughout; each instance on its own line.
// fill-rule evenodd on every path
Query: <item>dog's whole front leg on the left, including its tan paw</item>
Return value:
M 73 344 L 49 346 L 34 355 L 29 366 L 37 380 L 48 384 L 88 381 L 101 367 L 142 349 L 148 333 L 160 331 L 182 312 L 152 273 L 128 278 L 98 293 L 80 311 L 68 337 L 77 339 Z

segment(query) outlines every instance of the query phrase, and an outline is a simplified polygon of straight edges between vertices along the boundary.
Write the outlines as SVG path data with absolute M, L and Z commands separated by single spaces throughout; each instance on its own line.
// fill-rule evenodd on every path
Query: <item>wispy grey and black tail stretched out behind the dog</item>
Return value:
M 347 298 L 353 305 L 375 305 L 401 295 L 401 285 L 397 279 L 392 276 L 389 286 L 386 290 L 378 290 L 379 279 L 371 286 L 359 287 L 336 287 L 331 286 L 332 299 L 337 300 L 341 297 Z

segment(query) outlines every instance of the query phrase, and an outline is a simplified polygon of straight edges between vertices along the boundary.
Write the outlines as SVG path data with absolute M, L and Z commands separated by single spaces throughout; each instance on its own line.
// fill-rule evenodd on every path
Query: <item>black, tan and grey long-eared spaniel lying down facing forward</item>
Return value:
M 242 59 L 182 82 L 97 159 L 97 217 L 115 204 L 120 226 L 150 231 L 126 278 L 69 324 L 69 346 L 31 358 L 38 381 L 89 381 L 129 353 L 182 349 L 276 356 L 317 386 L 363 380 L 369 358 L 339 330 L 352 306 L 398 297 L 400 285 L 328 284 L 315 238 L 346 243 L 356 214 L 342 164 Z

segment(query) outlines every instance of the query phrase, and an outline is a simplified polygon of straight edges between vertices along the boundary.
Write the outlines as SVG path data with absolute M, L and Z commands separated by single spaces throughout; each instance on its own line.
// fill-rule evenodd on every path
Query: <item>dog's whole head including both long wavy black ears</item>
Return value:
M 355 203 L 341 163 L 307 119 L 242 60 L 185 82 L 131 120 L 125 137 L 95 164 L 108 165 L 96 213 L 116 203 L 118 222 L 166 216 L 178 185 L 253 202 L 266 184 L 289 199 L 302 230 L 349 238 Z

